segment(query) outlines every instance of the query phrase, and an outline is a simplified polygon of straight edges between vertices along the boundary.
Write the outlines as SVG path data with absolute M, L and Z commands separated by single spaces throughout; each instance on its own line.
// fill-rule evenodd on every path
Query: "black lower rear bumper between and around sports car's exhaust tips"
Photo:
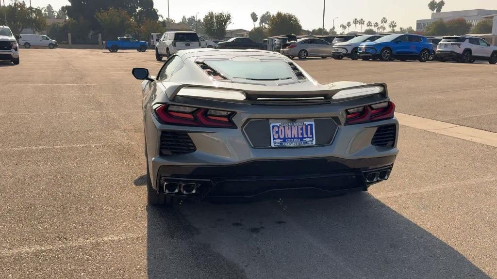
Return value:
M 388 179 L 395 157 L 322 157 L 253 160 L 233 165 L 162 166 L 157 183 L 163 193 L 165 183 L 195 183 L 198 188 L 194 194 L 179 191 L 166 195 L 196 200 L 327 196 L 366 190 L 370 184 Z M 367 181 L 368 174 L 382 171 L 384 175 L 378 180 Z

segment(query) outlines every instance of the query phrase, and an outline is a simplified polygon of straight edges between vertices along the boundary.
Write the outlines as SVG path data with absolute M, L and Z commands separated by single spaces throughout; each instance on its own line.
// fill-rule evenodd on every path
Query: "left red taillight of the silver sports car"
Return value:
M 207 108 L 186 107 L 177 105 L 160 105 L 155 109 L 157 117 L 164 124 L 211 127 L 237 128 L 231 120 L 234 112 Z

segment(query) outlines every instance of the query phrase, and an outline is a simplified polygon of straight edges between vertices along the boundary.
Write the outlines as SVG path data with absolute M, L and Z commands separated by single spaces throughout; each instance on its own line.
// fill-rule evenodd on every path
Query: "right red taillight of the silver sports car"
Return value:
M 378 121 L 394 117 L 395 104 L 391 101 L 345 110 L 345 125 Z

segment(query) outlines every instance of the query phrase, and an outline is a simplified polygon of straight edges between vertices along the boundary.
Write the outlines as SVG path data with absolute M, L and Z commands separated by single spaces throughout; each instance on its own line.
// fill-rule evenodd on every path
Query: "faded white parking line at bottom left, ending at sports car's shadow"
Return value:
M 33 253 L 33 252 L 40 252 L 46 250 L 58 250 L 69 247 L 84 246 L 93 243 L 104 243 L 109 241 L 125 240 L 129 238 L 145 237 L 146 235 L 147 235 L 146 233 L 124 233 L 124 234 L 109 235 L 100 238 L 89 237 L 86 239 L 56 243 L 52 245 L 33 245 L 33 246 L 26 246 L 26 247 L 13 248 L 13 249 L 3 249 L 0 250 L 0 256 L 12 256 L 23 253 Z

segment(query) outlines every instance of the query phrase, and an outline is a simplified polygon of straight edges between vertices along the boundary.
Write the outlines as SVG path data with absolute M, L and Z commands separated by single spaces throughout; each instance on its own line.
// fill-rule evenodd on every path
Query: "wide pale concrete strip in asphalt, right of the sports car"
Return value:
M 404 126 L 497 147 L 497 133 L 404 113 L 395 113 L 395 117 Z

